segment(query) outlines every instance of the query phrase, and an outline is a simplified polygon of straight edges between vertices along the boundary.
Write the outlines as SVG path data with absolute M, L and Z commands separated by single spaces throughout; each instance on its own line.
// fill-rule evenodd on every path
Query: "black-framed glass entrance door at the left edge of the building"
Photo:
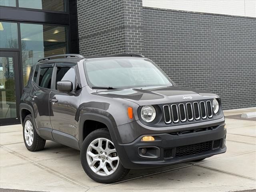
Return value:
M 18 52 L 0 51 L 0 125 L 19 123 Z

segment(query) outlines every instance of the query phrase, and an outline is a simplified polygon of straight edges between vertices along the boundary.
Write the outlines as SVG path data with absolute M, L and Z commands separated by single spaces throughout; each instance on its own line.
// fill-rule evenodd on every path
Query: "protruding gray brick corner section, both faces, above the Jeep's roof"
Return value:
M 80 54 L 142 52 L 142 0 L 78 0 Z

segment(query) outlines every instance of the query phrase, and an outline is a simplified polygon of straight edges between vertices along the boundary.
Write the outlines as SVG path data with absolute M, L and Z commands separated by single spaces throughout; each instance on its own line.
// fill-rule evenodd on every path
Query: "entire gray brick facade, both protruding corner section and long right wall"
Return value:
M 224 109 L 256 106 L 256 19 L 78 0 L 80 54 L 144 54 L 174 82 L 208 90 Z

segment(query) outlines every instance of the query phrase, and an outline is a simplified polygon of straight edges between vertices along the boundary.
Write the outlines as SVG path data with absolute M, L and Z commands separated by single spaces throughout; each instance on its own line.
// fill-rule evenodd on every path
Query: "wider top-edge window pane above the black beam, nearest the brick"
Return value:
M 19 7 L 51 10 L 51 11 L 66 11 L 66 0 L 19 0 Z

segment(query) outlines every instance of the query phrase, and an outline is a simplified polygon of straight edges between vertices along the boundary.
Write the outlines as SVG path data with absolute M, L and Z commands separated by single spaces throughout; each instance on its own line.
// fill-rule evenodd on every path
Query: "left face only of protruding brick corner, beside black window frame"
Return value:
M 78 0 L 80 54 L 124 52 L 124 3 L 119 0 Z

